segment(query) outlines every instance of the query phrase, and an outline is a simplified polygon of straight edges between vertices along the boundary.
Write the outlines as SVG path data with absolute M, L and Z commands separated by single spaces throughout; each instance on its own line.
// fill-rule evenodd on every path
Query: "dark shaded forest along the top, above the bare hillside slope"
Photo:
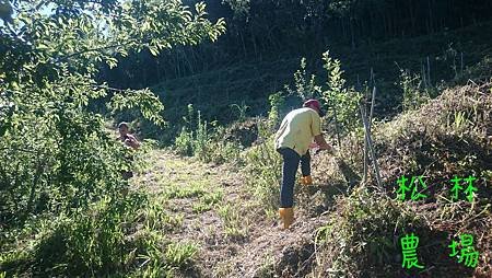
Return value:
M 197 0 L 184 0 L 192 5 Z M 145 86 L 203 72 L 237 60 L 285 55 L 313 57 L 327 46 L 356 47 L 455 30 L 492 19 L 483 0 L 207 0 L 209 16 L 224 18 L 215 44 L 177 46 L 153 57 L 125 59 L 103 78 L 116 86 Z

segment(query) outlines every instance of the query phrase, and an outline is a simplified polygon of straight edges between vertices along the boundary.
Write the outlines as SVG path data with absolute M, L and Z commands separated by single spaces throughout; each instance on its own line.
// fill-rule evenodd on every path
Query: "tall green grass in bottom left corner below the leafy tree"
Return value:
M 166 218 L 141 196 L 105 198 L 71 215 L 28 220 L 14 240 L 2 243 L 0 265 L 8 277 L 117 277 L 132 271 L 142 277 L 140 271 L 166 268 L 160 252 Z

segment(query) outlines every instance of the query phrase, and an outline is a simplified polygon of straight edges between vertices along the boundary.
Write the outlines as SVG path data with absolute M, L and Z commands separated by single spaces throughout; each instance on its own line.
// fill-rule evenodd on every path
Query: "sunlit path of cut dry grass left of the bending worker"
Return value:
M 245 176 L 236 169 L 201 163 L 163 150 L 134 178 L 162 206 L 166 236 L 179 246 L 177 277 L 272 277 L 302 271 L 297 264 L 313 253 L 313 231 L 323 218 L 297 221 L 281 231 L 276 219 L 255 212 Z M 298 219 L 305 218 L 303 213 Z M 179 256 L 176 254 L 175 256 Z

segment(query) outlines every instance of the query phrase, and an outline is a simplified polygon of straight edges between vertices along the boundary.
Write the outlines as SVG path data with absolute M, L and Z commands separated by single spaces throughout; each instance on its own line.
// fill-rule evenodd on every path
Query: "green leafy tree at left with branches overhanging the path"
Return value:
M 2 223 L 118 192 L 125 150 L 89 105 L 138 108 L 157 125 L 164 106 L 150 90 L 112 89 L 96 73 L 131 51 L 215 40 L 225 22 L 206 15 L 206 4 L 179 0 L 0 1 Z

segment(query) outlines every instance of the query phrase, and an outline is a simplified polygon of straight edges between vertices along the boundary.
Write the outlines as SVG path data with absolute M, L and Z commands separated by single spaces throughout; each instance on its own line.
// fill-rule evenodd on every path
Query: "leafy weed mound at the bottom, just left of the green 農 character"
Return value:
M 318 276 L 394 276 L 400 269 L 394 256 L 401 234 L 429 229 L 403 204 L 366 188 L 338 198 L 335 208 L 316 235 Z

